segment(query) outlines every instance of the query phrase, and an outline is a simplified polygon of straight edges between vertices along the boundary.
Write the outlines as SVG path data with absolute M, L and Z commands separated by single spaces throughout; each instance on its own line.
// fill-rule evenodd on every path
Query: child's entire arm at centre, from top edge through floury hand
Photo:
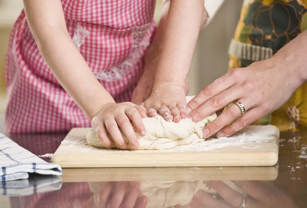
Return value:
M 167 19 L 161 35 L 155 83 L 144 106 L 149 116 L 158 111 L 165 120 L 179 122 L 186 117 L 184 85 L 199 31 L 206 18 L 204 0 L 170 0 L 169 11 L 164 18 Z

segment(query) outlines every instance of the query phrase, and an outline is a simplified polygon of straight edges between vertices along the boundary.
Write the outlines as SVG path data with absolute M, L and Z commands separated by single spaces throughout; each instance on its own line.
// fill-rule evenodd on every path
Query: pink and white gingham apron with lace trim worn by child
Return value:
M 155 30 L 156 1 L 61 2 L 69 34 L 96 78 L 116 102 L 130 101 Z M 5 78 L 7 133 L 91 126 L 39 54 L 24 11 L 11 32 Z

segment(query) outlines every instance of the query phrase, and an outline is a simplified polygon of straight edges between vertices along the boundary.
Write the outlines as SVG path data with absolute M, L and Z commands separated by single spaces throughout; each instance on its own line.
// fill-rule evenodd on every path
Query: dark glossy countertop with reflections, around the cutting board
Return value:
M 10 138 L 34 154 L 44 155 L 54 153 L 64 136 L 23 134 Z M 186 203 L 173 204 L 175 207 L 239 207 L 242 193 L 247 194 L 247 208 L 307 207 L 307 132 L 280 133 L 279 161 L 274 167 L 63 169 L 54 183 L 46 181 L 50 179 L 31 175 L 28 188 L 22 191 L 24 196 L 7 196 L 8 207 L 145 207 L 146 200 L 151 200 L 151 206 L 146 207 L 162 207 L 159 197 L 168 198 L 169 203 Z M 195 191 L 196 183 L 207 184 L 207 191 Z M 44 193 L 31 195 L 29 184 L 45 186 L 40 189 Z M 97 186 L 102 190 L 94 194 Z M 141 190 L 151 187 L 149 192 L 158 197 L 156 201 L 138 196 L 140 186 Z M 0 197 L 0 204 L 1 200 L 4 197 Z

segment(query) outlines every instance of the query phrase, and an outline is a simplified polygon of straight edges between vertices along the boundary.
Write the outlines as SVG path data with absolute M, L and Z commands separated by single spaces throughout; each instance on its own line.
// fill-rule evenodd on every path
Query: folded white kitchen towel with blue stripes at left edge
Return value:
M 59 165 L 47 163 L 0 133 L 0 181 L 26 179 L 29 173 L 61 175 Z

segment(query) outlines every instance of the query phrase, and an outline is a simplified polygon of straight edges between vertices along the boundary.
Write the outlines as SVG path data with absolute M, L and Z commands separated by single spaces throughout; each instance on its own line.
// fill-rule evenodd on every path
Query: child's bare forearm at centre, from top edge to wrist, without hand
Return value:
M 170 0 L 157 37 L 162 38 L 155 83 L 183 86 L 189 73 L 200 28 L 204 24 L 204 0 Z M 161 29 L 161 30 L 160 30 Z M 160 30 L 160 31 L 159 31 Z M 163 35 L 162 35 L 163 33 Z

